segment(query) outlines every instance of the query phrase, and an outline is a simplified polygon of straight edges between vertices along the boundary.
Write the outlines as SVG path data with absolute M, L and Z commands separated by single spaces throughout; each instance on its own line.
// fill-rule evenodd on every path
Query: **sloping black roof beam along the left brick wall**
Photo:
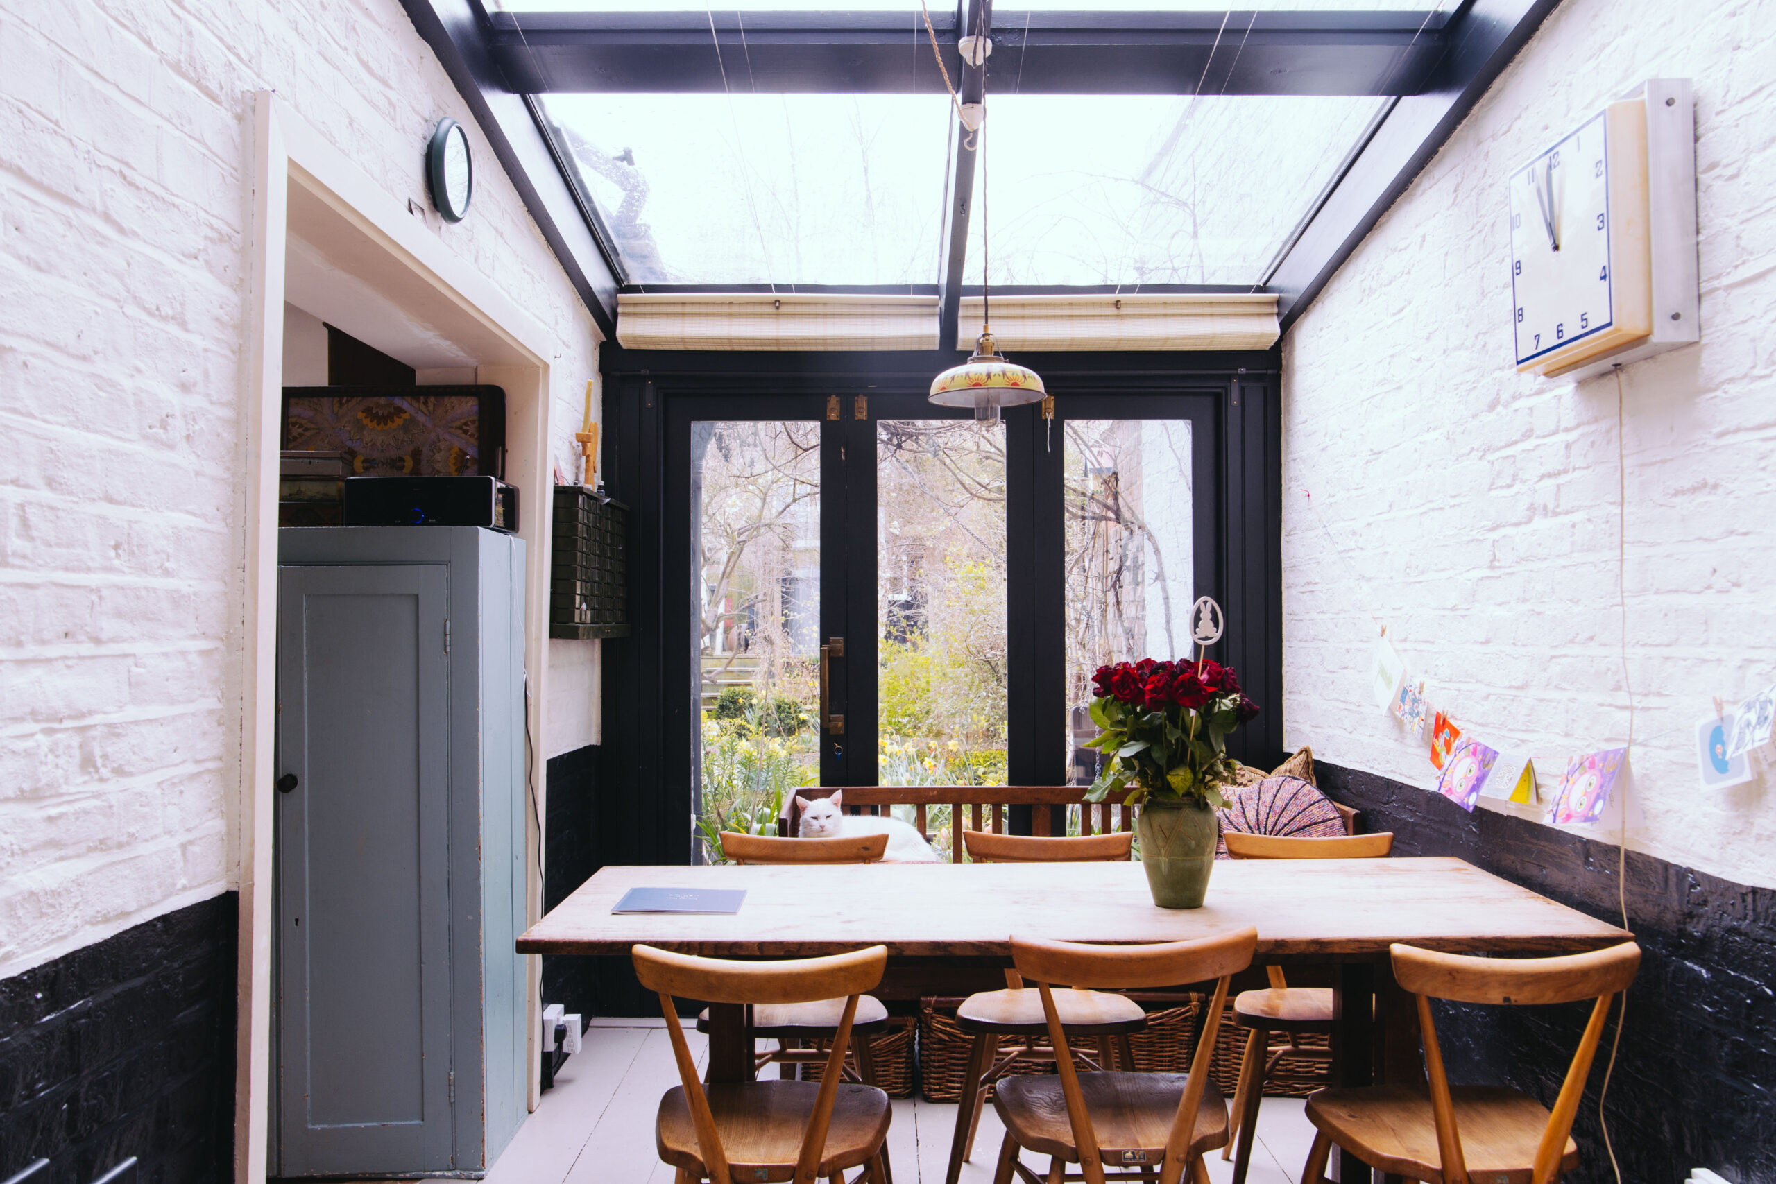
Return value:
M 616 337 L 620 268 L 604 254 L 529 101 L 501 73 L 474 0 L 401 0 L 456 92 L 469 103 L 524 208 L 579 291 L 606 341 Z M 417 149 L 416 149 L 417 151 Z

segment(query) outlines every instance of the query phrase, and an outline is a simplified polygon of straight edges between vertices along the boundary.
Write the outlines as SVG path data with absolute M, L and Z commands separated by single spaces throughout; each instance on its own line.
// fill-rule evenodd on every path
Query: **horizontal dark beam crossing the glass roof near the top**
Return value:
M 1000 11 L 987 87 L 1021 71 L 1023 94 L 1414 94 L 1444 55 L 1446 20 Z M 916 14 L 501 11 L 490 21 L 492 53 L 527 92 L 943 92 L 931 53 L 909 51 L 909 39 L 925 43 Z M 932 12 L 947 53 L 959 25 Z

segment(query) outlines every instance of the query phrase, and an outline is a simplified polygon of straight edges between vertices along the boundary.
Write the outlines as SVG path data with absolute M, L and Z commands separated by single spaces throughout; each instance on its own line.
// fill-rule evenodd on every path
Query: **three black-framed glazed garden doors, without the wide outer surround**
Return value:
M 714 831 L 796 785 L 1090 781 L 1090 671 L 1186 657 L 1220 593 L 1217 394 L 670 398 L 661 788 Z

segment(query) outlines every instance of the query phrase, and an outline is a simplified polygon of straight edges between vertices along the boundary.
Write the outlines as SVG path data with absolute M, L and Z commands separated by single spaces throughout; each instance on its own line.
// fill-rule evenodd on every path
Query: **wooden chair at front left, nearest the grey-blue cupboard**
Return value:
M 654 1138 L 661 1161 L 678 1170 L 677 1184 L 710 1180 L 892 1184 L 888 1173 L 888 1095 L 868 1085 L 842 1083 L 840 1062 L 858 1001 L 881 982 L 888 948 L 794 962 L 723 962 L 654 946 L 634 948 L 636 976 L 659 992 L 666 1033 L 682 1085 L 661 1097 Z M 703 1085 L 684 1038 L 675 996 L 709 1003 L 794 1006 L 842 998 L 836 1040 L 819 1085 L 812 1081 L 728 1081 Z

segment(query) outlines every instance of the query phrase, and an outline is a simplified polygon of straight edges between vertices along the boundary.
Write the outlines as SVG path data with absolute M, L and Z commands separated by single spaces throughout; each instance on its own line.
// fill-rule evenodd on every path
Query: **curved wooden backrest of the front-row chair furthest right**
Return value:
M 1431 1088 L 1431 1117 L 1437 1124 L 1437 1154 L 1442 1163 L 1444 1184 L 1469 1184 L 1467 1161 L 1462 1156 L 1462 1133 L 1455 1122 L 1455 1102 L 1449 1077 L 1444 1074 L 1442 1049 L 1437 1046 L 1437 1022 L 1431 999 L 1495 1005 L 1543 1005 L 1597 999 L 1591 1021 L 1579 1038 L 1579 1051 L 1566 1069 L 1547 1129 L 1536 1147 L 1533 1184 L 1556 1184 L 1566 1136 L 1584 1097 L 1584 1081 L 1591 1074 L 1591 1060 L 1604 1035 L 1609 1005 L 1629 989 L 1641 966 L 1641 948 L 1632 941 L 1591 953 L 1574 953 L 1559 959 L 1476 959 L 1458 953 L 1435 953 L 1415 946 L 1392 946 L 1394 978 L 1417 996 L 1419 1026 L 1424 1030 L 1424 1069 Z

